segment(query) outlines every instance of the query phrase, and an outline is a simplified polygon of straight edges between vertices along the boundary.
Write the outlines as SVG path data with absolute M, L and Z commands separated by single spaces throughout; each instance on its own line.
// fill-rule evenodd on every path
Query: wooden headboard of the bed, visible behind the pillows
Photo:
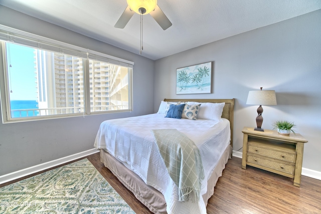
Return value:
M 225 103 L 222 117 L 230 121 L 231 126 L 231 146 L 233 147 L 233 116 L 235 99 L 164 99 L 166 102 L 200 102 L 200 103 Z

